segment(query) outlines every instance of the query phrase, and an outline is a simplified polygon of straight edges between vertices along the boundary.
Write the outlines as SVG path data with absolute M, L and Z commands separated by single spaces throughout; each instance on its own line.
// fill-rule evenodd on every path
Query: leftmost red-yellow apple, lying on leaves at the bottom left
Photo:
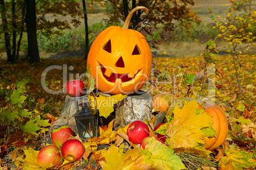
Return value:
M 60 155 L 60 150 L 55 145 L 47 145 L 42 148 L 37 157 L 38 165 L 46 168 L 50 166 L 60 166 L 63 158 Z

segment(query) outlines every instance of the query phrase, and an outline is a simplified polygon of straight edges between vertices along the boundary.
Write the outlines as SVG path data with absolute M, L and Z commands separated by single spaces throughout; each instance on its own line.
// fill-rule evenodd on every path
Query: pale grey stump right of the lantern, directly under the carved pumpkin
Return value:
M 124 128 L 127 124 L 134 121 L 151 120 L 152 118 L 152 97 L 150 93 L 134 93 L 126 96 L 124 100 L 119 101 L 115 107 L 115 122 L 117 128 Z

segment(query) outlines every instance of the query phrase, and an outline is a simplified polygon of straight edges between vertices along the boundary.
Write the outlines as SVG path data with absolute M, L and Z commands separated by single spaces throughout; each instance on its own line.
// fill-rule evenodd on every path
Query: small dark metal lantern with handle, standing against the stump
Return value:
M 80 90 L 83 90 L 83 89 L 92 91 L 89 88 L 82 88 Z M 76 93 L 76 95 L 78 94 L 78 92 Z M 78 101 L 76 100 L 76 96 L 75 96 L 76 114 L 73 115 L 73 117 L 75 117 L 75 120 L 76 120 L 76 127 L 78 129 L 78 134 L 80 138 L 83 138 L 85 140 L 99 136 L 99 131 L 98 131 L 99 110 L 96 107 L 97 105 L 96 97 L 94 95 L 94 92 L 92 91 L 92 94 L 94 95 L 94 103 L 95 103 L 95 109 L 92 110 L 89 108 L 90 103 L 89 103 L 88 94 L 89 93 L 87 93 L 88 101 L 85 103 L 79 104 L 79 106 L 82 107 L 81 110 L 78 109 Z

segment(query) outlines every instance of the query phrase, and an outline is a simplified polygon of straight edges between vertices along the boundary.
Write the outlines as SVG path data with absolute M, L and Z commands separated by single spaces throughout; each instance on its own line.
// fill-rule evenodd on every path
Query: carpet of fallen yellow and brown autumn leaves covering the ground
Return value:
M 192 75 L 196 75 L 203 58 L 153 58 L 153 60 L 155 66 L 152 70 L 158 71 L 152 72 L 153 77 L 150 77 L 150 82 L 143 87 L 143 90 L 150 92 L 152 96 L 159 92 L 167 92 L 180 98 L 185 96 L 188 90 L 192 90 L 190 97 L 196 95 L 208 97 L 208 91 L 215 90 L 216 95 L 211 99 L 224 110 L 229 124 L 227 141 L 222 147 L 212 152 L 204 149 L 204 139 L 208 137 L 208 134 L 202 129 L 210 126 L 210 117 L 197 111 L 196 103 L 190 101 L 182 109 L 175 107 L 173 117 L 166 116 L 166 124 L 157 129 L 157 133 L 167 136 L 166 143 L 151 138 L 146 148 L 143 149 L 128 140 L 127 126 L 114 131 L 115 122 L 110 122 L 108 128 L 101 131 L 99 138 L 83 141 L 85 146 L 83 159 L 78 162 L 64 162 L 55 169 L 82 167 L 84 169 L 176 170 L 188 167 L 189 169 L 253 169 L 256 167 L 256 57 L 251 55 L 241 58 L 241 63 L 243 63 L 239 75 L 243 92 L 241 96 L 236 80 L 236 70 L 234 70 L 230 57 L 218 56 L 218 66 L 222 71 L 222 77 L 207 77 L 209 81 L 204 79 L 205 84 L 202 86 L 203 78 L 197 76 L 201 82 L 197 84 L 195 82 L 192 87 L 188 86 L 188 82 L 194 79 Z M 72 63 L 74 69 L 67 69 L 71 64 L 66 65 L 66 63 Z M 82 58 L 41 60 L 35 65 L 29 65 L 26 62 L 17 63 L 15 66 L 1 63 L 4 70 L 0 73 L 1 108 L 7 107 L 4 96 L 6 91 L 12 89 L 16 80 L 29 78 L 26 85 L 28 98 L 22 107 L 26 110 L 34 110 L 32 114 L 35 117 L 41 116 L 53 124 L 59 117 L 66 94 L 52 95 L 42 88 L 41 74 L 51 65 L 62 67 L 62 70 L 50 70 L 46 74 L 46 86 L 55 91 L 62 90 L 64 73 L 82 75 L 86 72 L 86 62 Z M 85 86 L 89 86 L 88 79 L 83 78 Z M 116 100 L 122 100 L 124 97 L 99 95 L 97 102 L 104 103 L 106 100 L 111 100 L 114 104 Z M 106 105 L 105 108 L 99 108 L 99 110 L 103 117 L 108 117 L 113 107 Z M 150 121 L 152 120 L 147 120 L 147 122 Z M 8 127 L 0 127 L 1 167 L 17 166 L 23 169 L 31 169 L 31 167 L 40 169 L 36 162 L 36 155 L 43 148 L 44 130 L 41 129 L 34 136 L 30 136 L 28 133 L 18 133 L 18 129 L 9 128 L 9 133 L 5 133 Z M 45 128 L 45 132 L 46 130 Z M 155 136 L 155 133 L 150 131 L 150 136 Z

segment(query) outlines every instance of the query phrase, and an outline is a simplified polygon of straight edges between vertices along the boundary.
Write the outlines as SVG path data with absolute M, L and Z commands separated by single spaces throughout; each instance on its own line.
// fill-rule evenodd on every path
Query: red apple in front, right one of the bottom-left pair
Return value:
M 76 161 L 82 158 L 85 148 L 83 143 L 79 140 L 67 140 L 61 147 L 61 154 L 64 159 L 69 161 Z

